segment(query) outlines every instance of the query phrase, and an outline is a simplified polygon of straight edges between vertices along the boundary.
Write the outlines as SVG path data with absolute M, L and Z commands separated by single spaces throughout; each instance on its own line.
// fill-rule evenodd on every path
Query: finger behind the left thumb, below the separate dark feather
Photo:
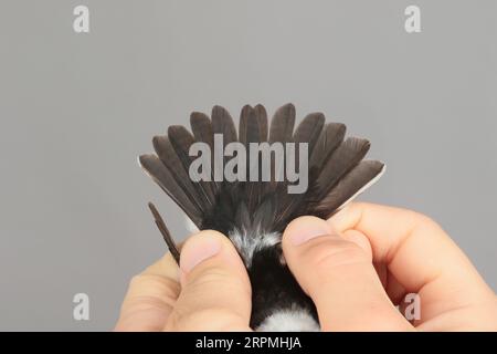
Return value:
M 162 331 L 179 292 L 178 266 L 167 253 L 131 279 L 115 331 Z

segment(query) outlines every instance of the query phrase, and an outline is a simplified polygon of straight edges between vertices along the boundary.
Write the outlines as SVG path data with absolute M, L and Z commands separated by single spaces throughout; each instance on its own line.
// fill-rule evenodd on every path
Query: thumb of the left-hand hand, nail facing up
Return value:
M 250 331 L 248 275 L 225 236 L 202 231 L 189 238 L 180 268 L 181 293 L 167 331 Z

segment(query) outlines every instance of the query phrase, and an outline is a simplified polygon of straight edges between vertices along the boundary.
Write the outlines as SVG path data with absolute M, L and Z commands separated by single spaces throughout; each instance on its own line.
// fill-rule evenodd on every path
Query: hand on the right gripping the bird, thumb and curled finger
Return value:
M 438 225 L 414 211 L 351 204 L 288 225 L 283 250 L 324 331 L 497 331 L 497 298 Z M 421 319 L 394 304 L 417 293 Z

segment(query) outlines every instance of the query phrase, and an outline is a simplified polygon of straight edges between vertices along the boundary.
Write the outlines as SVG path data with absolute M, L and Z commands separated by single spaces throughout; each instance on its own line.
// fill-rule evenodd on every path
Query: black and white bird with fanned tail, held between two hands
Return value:
M 382 163 L 363 159 L 370 147 L 367 139 L 345 138 L 343 124 L 326 123 L 324 114 L 310 113 L 294 131 L 295 115 L 294 105 L 286 104 L 275 112 L 269 125 L 264 106 L 246 105 L 236 132 L 230 113 L 214 106 L 211 117 L 191 114 L 192 133 L 183 126 L 170 126 L 167 136 L 154 137 L 156 154 L 139 157 L 141 167 L 200 230 L 218 230 L 233 242 L 250 275 L 251 327 L 256 331 L 319 331 L 314 303 L 285 263 L 282 232 L 299 216 L 330 217 L 384 171 Z M 307 190 L 288 194 L 292 183 L 273 178 L 274 162 L 268 181 L 192 181 L 190 147 L 195 142 L 212 147 L 214 134 L 222 134 L 224 145 L 307 143 Z M 178 262 L 179 251 L 166 225 L 154 205 L 149 207 Z

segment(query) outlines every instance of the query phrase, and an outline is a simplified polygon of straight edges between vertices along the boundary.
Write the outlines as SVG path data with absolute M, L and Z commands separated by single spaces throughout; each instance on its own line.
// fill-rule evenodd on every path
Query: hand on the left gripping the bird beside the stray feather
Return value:
M 115 331 L 251 331 L 252 290 L 231 241 L 190 237 L 180 269 L 170 253 L 133 278 Z

